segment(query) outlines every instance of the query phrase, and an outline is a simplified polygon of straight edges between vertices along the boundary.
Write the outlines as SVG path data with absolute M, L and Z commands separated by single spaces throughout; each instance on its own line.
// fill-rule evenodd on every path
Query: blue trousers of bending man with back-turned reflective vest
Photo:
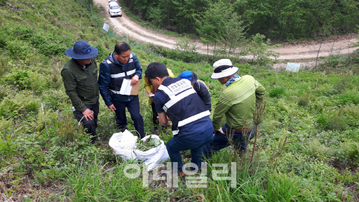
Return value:
M 212 142 L 213 137 L 213 127 L 208 130 L 205 130 L 203 133 L 199 133 L 198 135 L 194 135 L 189 138 L 181 138 L 177 136 L 173 136 L 170 140 L 168 140 L 165 147 L 167 147 L 167 152 L 170 155 L 170 159 L 172 162 L 172 169 L 175 171 L 182 171 L 182 156 L 180 151 L 185 151 L 191 149 L 191 163 L 195 163 L 198 168 L 201 168 L 202 162 L 202 146 L 203 144 L 208 144 L 208 142 Z M 177 168 L 174 168 L 173 163 L 177 162 Z

